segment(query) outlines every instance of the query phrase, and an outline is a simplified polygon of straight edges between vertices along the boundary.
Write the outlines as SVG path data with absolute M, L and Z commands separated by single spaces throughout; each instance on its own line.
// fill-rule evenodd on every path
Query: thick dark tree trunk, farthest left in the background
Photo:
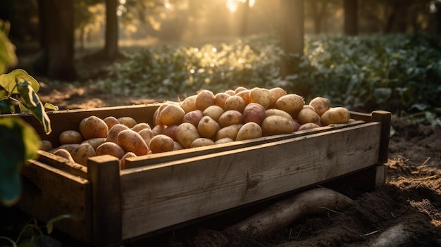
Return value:
M 39 0 L 38 3 L 43 30 L 40 69 L 52 79 L 73 81 L 77 77 L 74 66 L 73 1 Z

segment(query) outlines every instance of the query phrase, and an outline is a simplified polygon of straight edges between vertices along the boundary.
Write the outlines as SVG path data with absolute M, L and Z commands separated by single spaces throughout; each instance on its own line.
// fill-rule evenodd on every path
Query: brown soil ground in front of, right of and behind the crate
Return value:
M 88 83 L 43 83 L 39 95 L 61 109 L 159 101 L 114 97 Z M 399 119 L 392 128 L 386 183 L 371 192 L 344 191 L 354 199 L 344 211 L 308 215 L 268 236 L 199 225 L 127 246 L 441 246 L 441 128 Z

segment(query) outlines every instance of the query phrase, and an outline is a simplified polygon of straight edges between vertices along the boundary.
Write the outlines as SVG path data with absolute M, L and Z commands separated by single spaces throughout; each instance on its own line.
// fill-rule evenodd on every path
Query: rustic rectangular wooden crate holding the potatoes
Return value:
M 49 113 L 46 136 L 32 115 L 20 115 L 42 139 L 78 129 L 80 120 L 130 116 L 152 125 L 159 104 L 62 110 Z M 350 124 L 229 144 L 130 158 L 120 170 L 113 156 L 89 158 L 87 167 L 39 151 L 21 169 L 18 207 L 46 222 L 73 214 L 56 228 L 91 246 L 125 240 L 226 210 L 344 179 L 373 190 L 385 182 L 391 114 L 352 112 Z

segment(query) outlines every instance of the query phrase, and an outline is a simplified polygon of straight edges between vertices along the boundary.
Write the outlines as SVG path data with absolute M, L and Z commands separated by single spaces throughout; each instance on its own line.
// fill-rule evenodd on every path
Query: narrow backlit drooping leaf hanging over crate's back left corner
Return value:
M 30 83 L 21 82 L 17 85 L 17 89 L 23 99 L 25 107 L 29 109 L 43 125 L 44 132 L 46 134 L 50 134 L 52 132 L 51 120 L 46 114 L 42 102 L 39 100 L 37 94 L 35 94 L 35 91 L 32 89 Z

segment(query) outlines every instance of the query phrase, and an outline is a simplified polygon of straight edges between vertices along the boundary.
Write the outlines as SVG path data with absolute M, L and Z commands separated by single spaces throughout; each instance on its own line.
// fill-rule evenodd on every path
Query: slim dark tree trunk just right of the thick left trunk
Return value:
M 116 7 L 118 0 L 106 0 L 106 41 L 102 55 L 109 60 L 118 56 L 118 17 Z

